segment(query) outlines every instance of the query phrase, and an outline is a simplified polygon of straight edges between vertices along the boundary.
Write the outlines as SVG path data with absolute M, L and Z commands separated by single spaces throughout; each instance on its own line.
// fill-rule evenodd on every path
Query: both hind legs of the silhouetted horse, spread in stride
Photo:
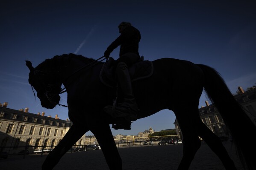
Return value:
M 185 115 L 184 115 L 185 113 Z M 183 135 L 183 157 L 178 170 L 187 170 L 194 159 L 197 150 L 200 148 L 201 141 L 199 136 L 209 145 L 211 150 L 220 158 L 227 170 L 236 170 L 234 162 L 231 160 L 227 150 L 223 146 L 220 138 L 216 136 L 201 121 L 198 108 L 186 106 L 175 112 L 179 127 Z

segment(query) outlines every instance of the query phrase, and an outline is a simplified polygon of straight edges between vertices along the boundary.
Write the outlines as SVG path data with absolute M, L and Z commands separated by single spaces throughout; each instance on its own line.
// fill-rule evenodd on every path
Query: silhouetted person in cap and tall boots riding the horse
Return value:
M 133 95 L 128 67 L 140 58 L 138 43 L 141 40 L 141 34 L 128 22 L 121 22 L 118 29 L 121 35 L 104 52 L 104 56 L 108 59 L 110 53 L 120 45 L 119 58 L 116 60 L 116 75 L 124 95 L 124 103 L 115 107 L 115 117 L 127 117 L 130 121 L 136 121 L 138 106 Z M 104 110 L 109 114 L 113 113 L 112 106 L 106 106 Z

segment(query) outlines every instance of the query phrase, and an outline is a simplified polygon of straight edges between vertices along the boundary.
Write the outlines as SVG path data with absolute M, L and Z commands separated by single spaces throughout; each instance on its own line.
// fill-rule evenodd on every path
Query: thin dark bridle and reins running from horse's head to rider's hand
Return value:
M 103 59 L 102 59 L 102 58 L 103 58 Z M 100 59 L 102 59 L 102 60 L 100 60 Z M 78 69 L 77 71 L 71 73 L 71 75 L 68 75 L 68 77 L 64 78 L 64 80 L 67 80 L 67 79 L 70 78 L 72 75 L 76 74 L 77 72 L 81 71 L 82 69 L 89 69 L 89 68 L 91 68 L 92 66 L 96 65 L 97 63 L 99 63 L 99 62 L 101 62 L 101 61 L 103 61 L 103 60 L 105 60 L 105 59 L 106 59 L 105 56 L 102 56 L 102 57 L 98 58 L 97 60 L 95 60 L 95 61 L 93 61 L 93 62 L 91 62 L 91 63 L 88 63 L 87 65 L 83 66 L 82 68 Z M 99 60 L 100 60 L 100 61 L 99 61 Z M 99 61 L 99 62 L 97 62 L 97 61 Z M 41 77 L 41 75 L 45 75 L 45 74 L 49 74 L 49 73 L 45 73 L 45 72 L 43 72 L 43 71 L 34 70 L 34 75 L 36 75 L 37 77 Z M 45 84 L 44 81 L 42 81 L 41 78 L 37 78 L 37 79 L 38 79 L 37 81 L 39 81 L 40 84 L 41 84 L 41 85 L 40 85 L 40 89 L 38 90 L 37 93 L 39 93 L 39 92 L 43 89 L 43 90 L 44 90 L 43 94 L 47 97 L 48 101 L 51 101 L 51 99 L 52 99 L 53 97 L 55 97 L 56 95 L 60 95 L 60 94 L 62 94 L 62 93 L 64 93 L 64 92 L 67 92 L 67 90 L 65 90 L 65 89 L 66 89 L 65 87 L 64 87 L 63 89 L 61 89 L 61 88 L 58 86 L 58 87 L 59 87 L 59 90 L 57 90 L 56 93 L 51 93 L 51 92 L 53 91 L 53 89 L 55 89 L 57 86 L 54 86 L 53 84 Z M 29 84 L 30 84 L 30 83 L 29 83 Z M 34 92 L 34 90 L 33 90 L 33 86 L 31 85 L 31 87 L 32 87 L 32 91 L 33 91 L 34 96 L 35 96 L 35 92 Z M 39 93 L 39 94 L 40 94 L 40 93 Z M 62 107 L 68 107 L 68 106 L 66 106 L 66 105 L 59 104 L 59 103 L 56 104 L 56 105 L 59 105 L 59 106 L 62 106 Z

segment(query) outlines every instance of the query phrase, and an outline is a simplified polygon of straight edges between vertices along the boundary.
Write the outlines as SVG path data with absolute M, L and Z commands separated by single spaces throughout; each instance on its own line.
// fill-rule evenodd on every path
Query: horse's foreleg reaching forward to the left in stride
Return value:
M 75 124 L 71 126 L 59 144 L 49 153 L 45 159 L 42 170 L 52 170 L 60 158 L 84 135 L 88 130 Z

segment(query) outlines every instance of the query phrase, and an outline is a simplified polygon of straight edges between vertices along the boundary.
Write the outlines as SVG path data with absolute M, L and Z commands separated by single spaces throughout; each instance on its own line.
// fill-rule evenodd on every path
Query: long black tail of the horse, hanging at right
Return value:
M 209 66 L 197 66 L 203 70 L 204 90 L 230 130 L 241 162 L 246 163 L 248 170 L 256 170 L 256 160 L 252 156 L 256 153 L 256 144 L 251 138 L 256 133 L 256 126 L 235 100 L 221 75 Z

